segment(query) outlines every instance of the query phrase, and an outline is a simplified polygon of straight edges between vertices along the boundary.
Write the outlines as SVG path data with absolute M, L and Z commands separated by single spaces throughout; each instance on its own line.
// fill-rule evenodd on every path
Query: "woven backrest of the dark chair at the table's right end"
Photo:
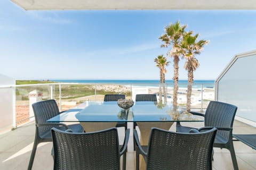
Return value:
M 210 101 L 205 111 L 205 126 L 233 128 L 233 122 L 236 115 L 237 107 L 220 101 Z M 223 138 L 228 140 L 231 136 L 230 131 L 217 132 Z

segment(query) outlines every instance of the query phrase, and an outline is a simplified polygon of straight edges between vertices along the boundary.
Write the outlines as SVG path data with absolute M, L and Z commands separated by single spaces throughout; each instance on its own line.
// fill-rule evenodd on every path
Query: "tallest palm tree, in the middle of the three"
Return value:
M 165 33 L 159 37 L 164 44 L 161 47 L 168 47 L 171 45 L 171 49 L 168 50 L 167 55 L 173 57 L 173 109 L 174 111 L 177 109 L 178 103 L 178 82 L 179 82 L 179 61 L 181 56 L 181 40 L 183 34 L 185 33 L 185 28 L 187 25 L 180 25 L 179 21 L 174 24 L 170 24 L 165 28 Z

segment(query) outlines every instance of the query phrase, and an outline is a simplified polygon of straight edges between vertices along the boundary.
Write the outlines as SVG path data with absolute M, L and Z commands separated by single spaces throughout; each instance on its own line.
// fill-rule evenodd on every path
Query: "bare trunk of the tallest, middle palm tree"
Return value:
M 177 111 L 177 106 L 178 106 L 178 82 L 179 82 L 179 56 L 174 55 L 173 56 L 173 68 L 174 68 L 174 75 L 173 75 L 173 111 Z

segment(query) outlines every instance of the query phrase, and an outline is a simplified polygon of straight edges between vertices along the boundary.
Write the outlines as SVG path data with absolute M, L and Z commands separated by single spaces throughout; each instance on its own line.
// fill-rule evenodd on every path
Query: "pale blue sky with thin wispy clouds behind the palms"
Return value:
M 209 40 L 195 80 L 215 80 L 255 50 L 256 11 L 25 11 L 0 1 L 0 74 L 14 79 L 159 79 L 154 58 L 170 23 Z M 173 77 L 172 60 L 166 79 Z M 180 61 L 180 79 L 187 79 Z

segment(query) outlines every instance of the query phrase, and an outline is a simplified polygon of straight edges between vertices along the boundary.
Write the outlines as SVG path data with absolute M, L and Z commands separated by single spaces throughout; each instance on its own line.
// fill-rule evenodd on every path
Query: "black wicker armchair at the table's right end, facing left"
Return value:
M 221 149 L 226 148 L 230 151 L 234 169 L 238 169 L 232 138 L 233 122 L 236 111 L 237 107 L 234 105 L 222 103 L 220 101 L 210 101 L 205 115 L 202 113 L 190 112 L 194 115 L 204 116 L 204 127 L 198 129 L 199 131 L 210 128 L 218 129 L 213 147 Z M 190 129 L 190 127 L 181 126 L 180 122 L 177 122 L 177 132 L 188 132 Z

